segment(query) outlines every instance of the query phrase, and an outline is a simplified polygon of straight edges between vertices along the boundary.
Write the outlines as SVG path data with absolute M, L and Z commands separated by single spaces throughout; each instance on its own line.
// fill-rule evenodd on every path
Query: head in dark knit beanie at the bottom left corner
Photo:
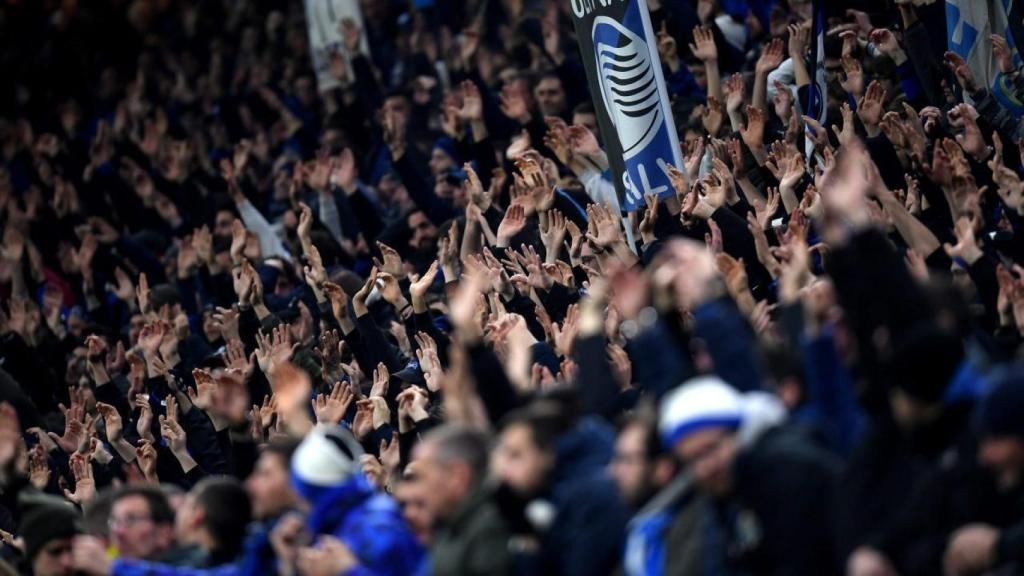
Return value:
M 81 533 L 79 516 L 65 503 L 43 503 L 32 506 L 18 525 L 25 540 L 25 558 L 34 576 L 71 576 L 72 538 Z

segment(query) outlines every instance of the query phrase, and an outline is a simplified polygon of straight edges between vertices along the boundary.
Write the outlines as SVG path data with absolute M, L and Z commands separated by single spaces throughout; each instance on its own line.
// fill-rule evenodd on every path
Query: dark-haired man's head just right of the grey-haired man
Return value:
M 557 463 L 555 442 L 566 428 L 564 419 L 547 402 L 507 415 L 494 459 L 495 476 L 520 497 L 541 492 Z

